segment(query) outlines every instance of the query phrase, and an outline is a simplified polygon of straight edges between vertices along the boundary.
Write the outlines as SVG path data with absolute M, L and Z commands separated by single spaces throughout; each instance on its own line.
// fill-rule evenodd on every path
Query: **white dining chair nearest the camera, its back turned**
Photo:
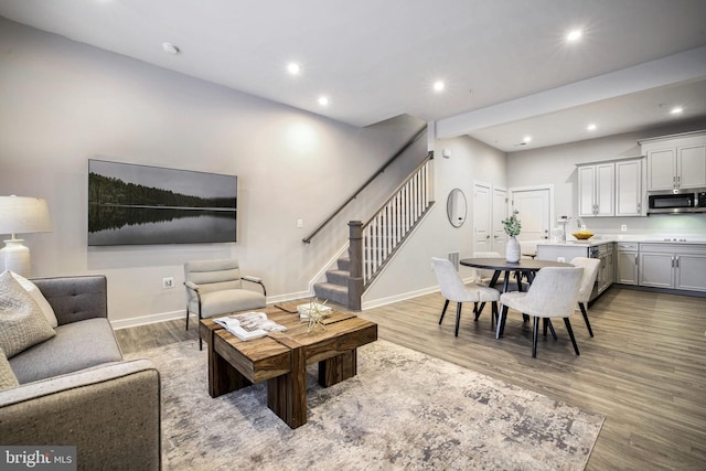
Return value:
M 563 318 L 574 344 L 574 351 L 579 355 L 569 317 L 576 310 L 582 275 L 582 267 L 547 267 L 537 272 L 526 292 L 512 291 L 503 293 L 500 297 L 503 308 L 498 320 L 496 336 L 500 338 L 503 334 L 509 309 L 534 315 L 532 357 L 536 357 L 539 319 Z

